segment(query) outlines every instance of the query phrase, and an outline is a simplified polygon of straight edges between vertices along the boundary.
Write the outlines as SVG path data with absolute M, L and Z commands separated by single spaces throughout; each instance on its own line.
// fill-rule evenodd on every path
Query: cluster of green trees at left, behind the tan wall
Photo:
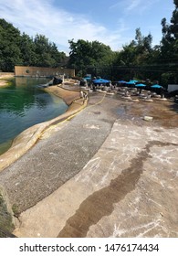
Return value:
M 0 19 L 0 69 L 13 71 L 15 65 L 58 67 L 66 59 L 54 43 L 43 35 L 34 39 Z

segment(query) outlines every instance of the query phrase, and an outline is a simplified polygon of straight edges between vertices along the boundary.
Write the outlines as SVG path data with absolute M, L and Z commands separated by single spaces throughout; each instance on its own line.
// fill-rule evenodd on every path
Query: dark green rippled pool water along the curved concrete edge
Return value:
M 66 112 L 68 105 L 39 87 L 47 79 L 14 78 L 0 87 L 0 155 L 26 128 Z

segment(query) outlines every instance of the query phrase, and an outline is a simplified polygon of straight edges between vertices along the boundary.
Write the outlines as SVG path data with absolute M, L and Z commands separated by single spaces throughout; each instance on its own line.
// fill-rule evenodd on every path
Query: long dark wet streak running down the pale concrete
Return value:
M 130 167 L 122 170 L 120 176 L 110 181 L 109 187 L 99 189 L 80 204 L 79 209 L 67 220 L 58 237 L 86 237 L 90 226 L 97 224 L 103 217 L 110 216 L 114 210 L 114 204 L 119 203 L 135 189 L 143 172 L 143 163 L 151 157 L 149 153 L 153 145 L 171 144 L 159 141 L 147 144 L 138 157 L 131 160 Z M 178 144 L 173 145 L 178 146 Z

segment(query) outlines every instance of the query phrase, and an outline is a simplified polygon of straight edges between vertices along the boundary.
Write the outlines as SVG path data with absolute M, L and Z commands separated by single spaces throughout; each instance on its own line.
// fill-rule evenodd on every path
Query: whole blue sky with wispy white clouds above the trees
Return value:
M 45 35 L 69 52 L 68 40 L 97 40 L 119 50 L 141 34 L 152 34 L 152 46 L 162 38 L 161 21 L 173 14 L 173 0 L 0 0 L 0 17 L 21 33 Z

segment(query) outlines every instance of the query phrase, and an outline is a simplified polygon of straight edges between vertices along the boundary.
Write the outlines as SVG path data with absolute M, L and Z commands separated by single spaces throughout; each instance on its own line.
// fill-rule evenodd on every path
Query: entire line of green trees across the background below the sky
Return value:
M 164 80 L 178 81 L 178 0 L 173 0 L 175 8 L 170 23 L 162 18 L 162 39 L 159 45 L 152 47 L 152 35 L 141 34 L 141 28 L 135 30 L 135 37 L 118 51 L 111 50 L 99 41 L 74 39 L 68 40 L 68 68 L 76 69 L 78 76 L 87 73 L 105 78 L 117 79 L 122 75 L 148 76 Z M 44 35 L 29 37 L 0 19 L 0 69 L 12 71 L 15 65 L 39 67 L 58 67 L 67 59 L 59 52 L 55 43 Z M 119 71 L 121 70 L 121 71 Z

